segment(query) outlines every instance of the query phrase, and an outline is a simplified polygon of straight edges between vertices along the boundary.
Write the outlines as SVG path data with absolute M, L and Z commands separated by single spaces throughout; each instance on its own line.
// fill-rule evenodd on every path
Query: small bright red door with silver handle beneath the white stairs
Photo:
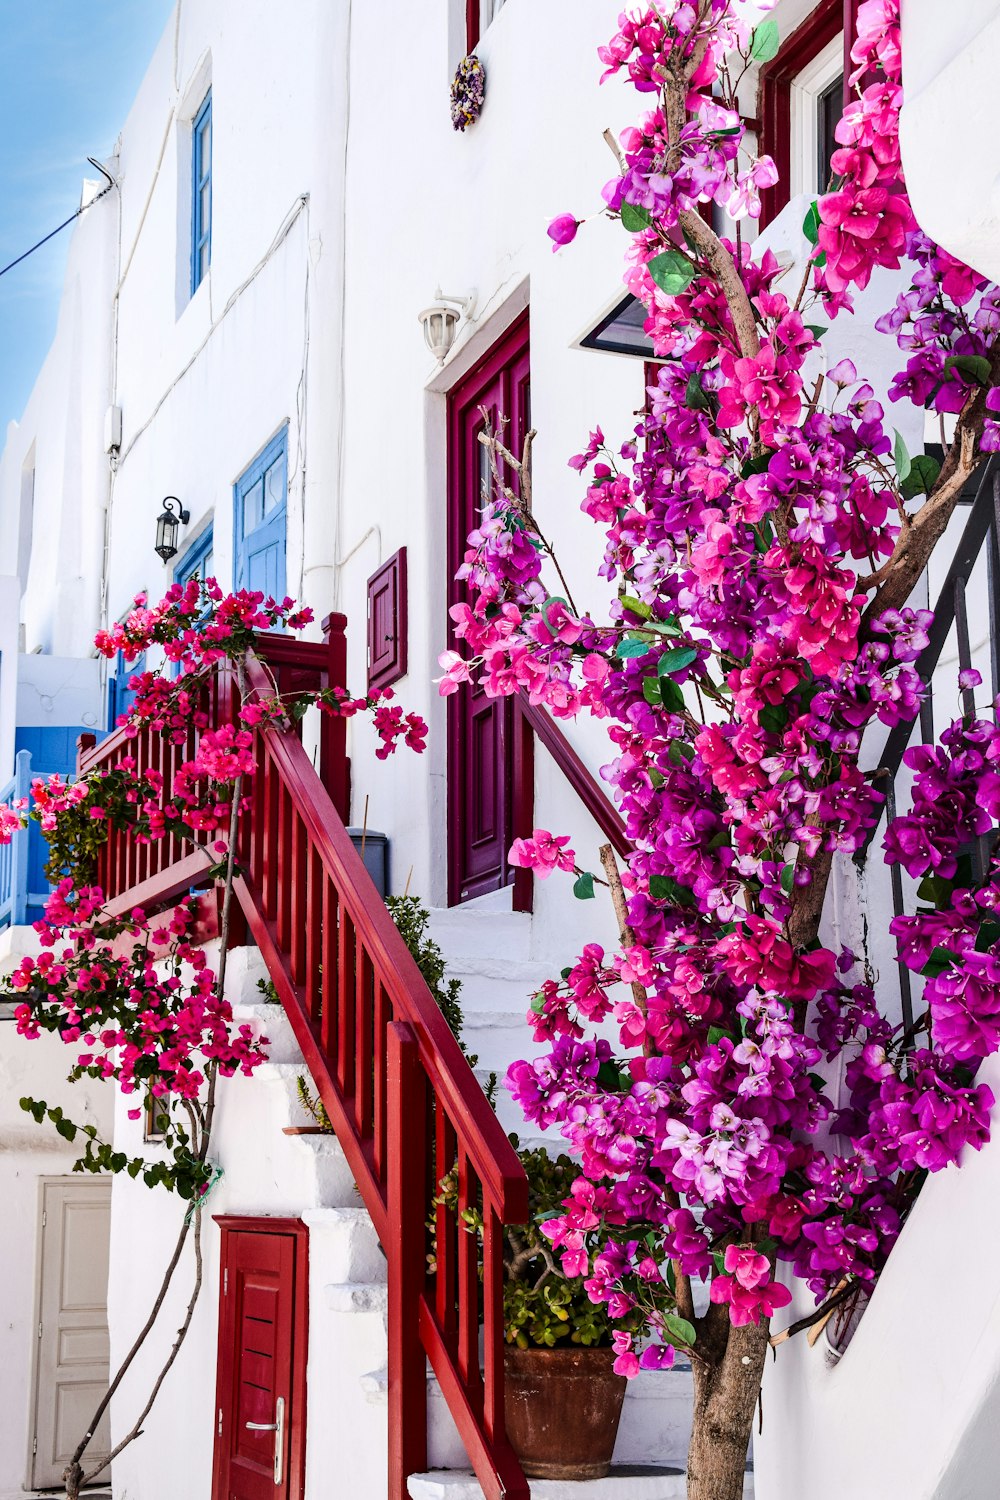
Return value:
M 306 1228 L 219 1218 L 219 1378 L 213 1500 L 301 1500 L 306 1440 Z

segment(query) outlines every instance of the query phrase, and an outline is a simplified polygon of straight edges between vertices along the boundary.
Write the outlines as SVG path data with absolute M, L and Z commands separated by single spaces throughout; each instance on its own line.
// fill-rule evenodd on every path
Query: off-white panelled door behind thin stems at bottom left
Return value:
M 31 1490 L 61 1484 L 63 1468 L 108 1389 L 109 1233 L 106 1179 L 40 1179 Z M 105 1413 L 84 1464 L 103 1458 L 109 1446 Z

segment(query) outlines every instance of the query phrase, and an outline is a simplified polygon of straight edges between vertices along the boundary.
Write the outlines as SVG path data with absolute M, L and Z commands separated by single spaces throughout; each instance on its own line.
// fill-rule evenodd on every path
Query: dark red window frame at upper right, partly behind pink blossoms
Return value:
M 778 182 L 765 188 L 760 195 L 760 228 L 766 228 L 802 192 L 804 153 L 795 141 L 793 98 L 801 78 L 823 57 L 828 48 L 843 36 L 844 104 L 847 104 L 847 78 L 853 70 L 850 50 L 858 34 L 858 6 L 861 0 L 820 0 L 811 15 L 781 45 L 777 57 L 760 69 L 759 117 L 760 136 L 757 147 L 762 156 L 772 156 L 778 168 Z M 832 76 L 837 76 L 835 74 Z M 826 78 L 829 82 L 831 78 Z M 819 94 L 819 88 L 816 93 Z M 813 159 L 816 159 L 816 124 L 811 129 Z M 793 171 L 793 160 L 798 162 Z M 798 172 L 798 186 L 795 177 Z

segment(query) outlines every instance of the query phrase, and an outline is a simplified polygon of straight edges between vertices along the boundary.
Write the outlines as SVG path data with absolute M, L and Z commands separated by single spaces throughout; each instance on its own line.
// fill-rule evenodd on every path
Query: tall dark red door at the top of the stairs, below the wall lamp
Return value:
M 490 470 L 478 441 L 487 412 L 507 418 L 507 447 L 520 454 L 531 426 L 528 314 L 448 398 L 448 606 L 468 598 L 456 582 L 466 537 L 478 525 Z M 448 618 L 448 644 L 456 648 Z M 454 906 L 513 880 L 514 710 L 507 698 L 462 687 L 448 699 L 448 902 Z

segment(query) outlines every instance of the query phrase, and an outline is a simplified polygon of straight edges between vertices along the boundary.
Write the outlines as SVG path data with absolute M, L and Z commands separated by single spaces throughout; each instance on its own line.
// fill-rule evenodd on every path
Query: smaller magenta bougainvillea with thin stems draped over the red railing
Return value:
M 345 717 L 366 711 L 379 740 L 378 756 L 391 754 L 400 742 L 424 748 L 427 726 L 391 702 L 391 690 L 354 699 L 334 684 L 291 696 L 274 692 L 261 700 L 247 688 L 246 658 L 255 634 L 301 630 L 310 620 L 310 610 L 297 609 L 291 598 L 277 603 L 249 591 L 226 596 L 214 579 L 177 584 L 154 606 L 138 597 L 127 618 L 94 642 L 109 658 L 121 654 L 132 663 L 157 651 L 163 662 L 162 670 L 130 678 L 133 705 L 118 726 L 126 736 L 142 729 L 160 736 L 162 753 L 150 756 L 156 765 L 177 759 L 178 746 L 193 748 L 190 759 L 180 760 L 166 783 L 162 771 L 126 756 L 78 780 L 36 780 L 24 804 L 0 807 L 0 842 L 9 843 L 28 818 L 40 824 L 54 882 L 45 916 L 36 922 L 40 952 L 25 957 L 7 981 L 18 1032 L 28 1040 L 42 1032 L 58 1036 L 69 1048 L 70 1080 L 114 1083 L 126 1096 L 129 1119 L 148 1112 L 159 1146 L 130 1156 L 93 1124 L 75 1124 L 61 1107 L 34 1098 L 21 1104 L 39 1124 L 48 1119 L 66 1140 L 81 1142 L 75 1170 L 127 1173 L 190 1202 L 150 1317 L 66 1467 L 70 1500 L 141 1434 L 177 1358 L 202 1284 L 202 1203 L 219 1172 L 211 1161 L 217 1080 L 252 1076 L 267 1054 L 267 1036 L 237 1023 L 225 994 L 237 834 L 249 806 L 255 732 L 286 728 L 310 708 Z M 229 723 L 213 723 L 208 712 L 210 678 L 220 666 L 237 687 Z M 127 831 L 139 844 L 174 837 L 181 846 L 208 848 L 214 862 L 202 896 L 192 894 L 165 912 L 120 910 L 106 902 L 93 878 L 109 828 Z M 205 922 L 204 909 L 216 900 L 216 885 L 222 886 L 217 927 Z M 216 970 L 205 954 L 214 930 L 220 938 Z M 181 1328 L 132 1428 L 106 1460 L 88 1466 L 88 1442 L 156 1322 L 189 1234 L 195 1278 Z

